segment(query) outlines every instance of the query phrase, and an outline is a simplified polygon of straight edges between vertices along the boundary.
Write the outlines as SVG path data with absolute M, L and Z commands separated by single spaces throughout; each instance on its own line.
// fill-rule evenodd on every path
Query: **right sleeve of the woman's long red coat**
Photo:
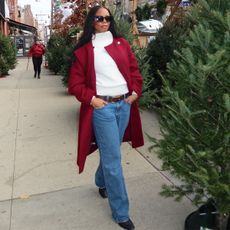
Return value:
M 127 52 L 129 58 L 129 69 L 130 69 L 130 76 L 132 82 L 132 89 L 137 93 L 138 96 L 141 96 L 143 79 L 137 64 L 136 57 L 128 42 L 127 42 Z

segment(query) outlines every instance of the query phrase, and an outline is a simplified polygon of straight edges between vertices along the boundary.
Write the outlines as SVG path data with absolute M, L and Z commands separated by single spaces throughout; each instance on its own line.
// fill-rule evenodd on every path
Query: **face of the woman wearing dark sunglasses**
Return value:
M 111 20 L 112 17 L 110 16 L 108 10 L 105 8 L 100 8 L 96 12 L 94 18 L 95 33 L 102 33 L 108 31 Z

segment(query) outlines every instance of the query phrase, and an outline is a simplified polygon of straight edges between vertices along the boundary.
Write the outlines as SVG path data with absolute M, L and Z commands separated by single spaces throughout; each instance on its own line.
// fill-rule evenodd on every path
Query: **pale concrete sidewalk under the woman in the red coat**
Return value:
M 107 200 L 94 185 L 98 153 L 84 172 L 76 167 L 79 103 L 67 94 L 61 77 L 42 69 L 33 78 L 32 63 L 19 59 L 10 76 L 0 78 L 0 230 L 119 230 Z M 142 112 L 146 133 L 159 135 L 156 116 Z M 158 193 L 170 183 L 160 161 L 144 147 L 122 145 L 130 198 L 130 216 L 137 230 L 183 230 L 194 210 Z M 165 174 L 166 175 L 166 174 Z

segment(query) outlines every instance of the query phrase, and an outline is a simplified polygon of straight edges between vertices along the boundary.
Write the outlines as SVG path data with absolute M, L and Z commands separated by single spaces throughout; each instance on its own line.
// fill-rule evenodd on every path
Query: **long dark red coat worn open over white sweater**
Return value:
M 140 96 L 142 77 L 129 43 L 123 38 L 114 38 L 112 44 L 106 46 L 105 49 L 127 81 L 129 92 L 135 91 Z M 77 157 L 79 173 L 81 173 L 84 169 L 87 155 L 97 149 L 92 126 L 94 108 L 90 105 L 92 97 L 96 95 L 96 74 L 92 42 L 75 50 L 74 55 L 76 60 L 70 68 L 68 89 L 69 93 L 81 102 Z M 123 141 L 131 141 L 133 148 L 144 144 L 137 102 L 131 105 L 130 120 Z

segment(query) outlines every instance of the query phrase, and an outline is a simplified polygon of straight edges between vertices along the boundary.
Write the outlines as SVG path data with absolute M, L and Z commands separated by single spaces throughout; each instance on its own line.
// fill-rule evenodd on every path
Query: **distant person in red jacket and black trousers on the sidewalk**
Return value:
M 31 46 L 28 52 L 28 58 L 32 56 L 33 67 L 34 67 L 34 78 L 38 77 L 40 79 L 42 56 L 45 54 L 45 46 L 42 44 L 41 40 L 36 40 L 36 42 Z

